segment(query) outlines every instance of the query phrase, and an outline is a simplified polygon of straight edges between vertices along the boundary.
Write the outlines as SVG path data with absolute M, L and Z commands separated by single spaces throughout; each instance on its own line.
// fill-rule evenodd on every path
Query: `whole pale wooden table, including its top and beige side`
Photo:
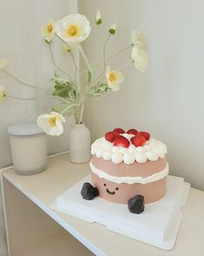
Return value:
M 204 192 L 191 188 L 172 251 L 163 251 L 56 212 L 48 205 L 90 173 L 88 164 L 73 164 L 67 154 L 48 160 L 41 174 L 18 175 L 2 170 L 3 207 L 10 256 L 64 255 L 203 255 Z

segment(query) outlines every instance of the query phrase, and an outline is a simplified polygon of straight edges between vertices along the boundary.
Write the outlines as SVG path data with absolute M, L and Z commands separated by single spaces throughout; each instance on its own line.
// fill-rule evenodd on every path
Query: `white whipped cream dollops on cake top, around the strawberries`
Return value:
M 131 141 L 134 135 L 122 134 Z M 101 137 L 92 143 L 92 155 L 103 158 L 105 161 L 112 161 L 119 164 L 124 161 L 125 164 L 132 164 L 134 161 L 143 163 L 145 161 L 157 161 L 164 158 L 167 154 L 167 147 L 162 141 L 158 141 L 150 137 L 143 147 L 135 147 L 130 144 L 128 148 L 113 146 L 112 142 L 106 141 L 105 137 Z

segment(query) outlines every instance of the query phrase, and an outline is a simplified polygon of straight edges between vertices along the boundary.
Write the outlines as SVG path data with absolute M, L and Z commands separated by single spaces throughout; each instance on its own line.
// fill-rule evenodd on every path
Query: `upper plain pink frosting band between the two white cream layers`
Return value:
M 160 158 L 157 161 L 145 161 L 144 163 L 135 161 L 131 165 L 127 165 L 124 162 L 114 164 L 112 161 L 105 161 L 103 158 L 97 158 L 96 156 L 92 156 L 92 164 L 94 167 L 112 176 L 141 176 L 143 178 L 156 174 L 167 166 L 165 158 Z

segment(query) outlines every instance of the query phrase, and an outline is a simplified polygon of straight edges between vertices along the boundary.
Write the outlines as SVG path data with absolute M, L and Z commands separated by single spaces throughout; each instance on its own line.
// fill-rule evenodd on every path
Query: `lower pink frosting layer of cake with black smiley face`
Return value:
M 99 196 L 114 203 L 127 204 L 131 197 L 142 194 L 145 204 L 160 200 L 166 194 L 166 177 L 147 184 L 115 183 L 92 173 L 92 185 L 99 189 Z

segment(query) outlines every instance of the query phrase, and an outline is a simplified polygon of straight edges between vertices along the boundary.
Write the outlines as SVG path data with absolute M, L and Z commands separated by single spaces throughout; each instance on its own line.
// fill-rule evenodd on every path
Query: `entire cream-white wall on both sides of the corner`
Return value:
M 105 21 L 102 34 L 113 22 L 118 23 L 117 34 L 108 48 L 111 55 L 130 43 L 131 29 L 136 28 L 146 36 L 150 57 L 145 73 L 127 66 L 120 91 L 88 102 L 85 121 L 92 131 L 92 140 L 115 127 L 148 130 L 167 144 L 170 173 L 185 177 L 193 187 L 204 189 L 203 1 L 79 0 L 79 3 L 80 12 L 92 25 L 96 11 L 101 11 Z M 8 0 L 0 2 L 0 10 L 0 56 L 8 58 L 7 68 L 27 82 L 51 89 L 52 84 L 45 81 L 52 76 L 53 67 L 39 29 L 45 17 L 58 19 L 70 13 L 69 1 Z M 92 62 L 98 53 L 95 32 L 93 25 L 92 36 L 85 43 Z M 112 61 L 112 67 L 130 60 L 130 53 L 127 51 L 123 58 Z M 61 67 L 68 69 L 66 56 L 61 56 L 61 52 L 56 56 Z M 39 95 L 1 73 L 0 83 L 10 94 Z M 36 116 L 48 111 L 50 106 L 50 102 L 1 102 L 0 167 L 11 163 L 7 127 L 35 121 Z M 67 122 L 68 127 L 71 124 L 72 121 Z M 49 140 L 49 153 L 65 149 L 67 132 Z M 3 248 L 1 240 L 0 247 Z

